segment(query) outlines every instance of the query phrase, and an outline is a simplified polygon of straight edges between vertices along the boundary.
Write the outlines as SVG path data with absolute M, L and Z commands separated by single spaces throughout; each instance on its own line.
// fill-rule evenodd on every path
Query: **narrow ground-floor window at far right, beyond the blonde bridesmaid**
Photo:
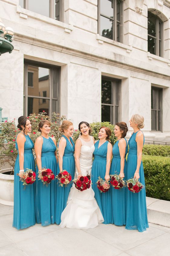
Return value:
M 162 130 L 162 89 L 151 87 L 152 130 Z

